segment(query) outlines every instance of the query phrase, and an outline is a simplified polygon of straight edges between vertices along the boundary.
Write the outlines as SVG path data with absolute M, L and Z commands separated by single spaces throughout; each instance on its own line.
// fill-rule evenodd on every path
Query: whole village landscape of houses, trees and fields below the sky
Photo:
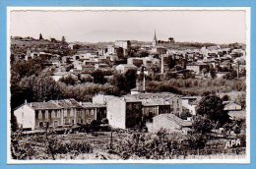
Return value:
M 19 137 L 27 143 L 39 137 L 48 142 L 46 149 L 54 149 L 47 137 L 72 136 L 91 138 L 83 139 L 90 148 L 81 153 L 96 146 L 96 156 L 83 158 L 244 154 L 246 46 L 166 39 L 158 39 L 156 30 L 152 42 L 12 37 L 13 149 L 19 151 Z M 90 145 L 97 138 L 102 142 Z M 217 147 L 222 150 L 213 151 Z M 52 159 L 64 153 L 56 149 L 48 152 Z

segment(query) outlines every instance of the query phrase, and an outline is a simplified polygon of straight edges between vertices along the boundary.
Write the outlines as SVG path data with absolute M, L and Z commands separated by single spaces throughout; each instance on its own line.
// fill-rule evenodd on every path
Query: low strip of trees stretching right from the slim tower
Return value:
M 171 79 L 169 81 L 150 81 L 146 85 L 149 92 L 168 91 L 182 95 L 203 95 L 205 92 L 245 91 L 242 80 L 224 79 Z

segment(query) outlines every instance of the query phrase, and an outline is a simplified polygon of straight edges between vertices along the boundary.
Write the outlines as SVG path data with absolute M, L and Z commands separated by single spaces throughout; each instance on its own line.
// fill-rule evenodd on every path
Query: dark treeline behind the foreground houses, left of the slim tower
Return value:
M 51 99 L 75 98 L 78 101 L 92 101 L 96 93 L 123 95 L 136 86 L 136 71 L 115 74 L 106 80 L 102 72 L 96 71 L 92 81 L 79 81 L 67 77 L 61 82 L 52 78 L 51 67 L 45 68 L 44 61 L 32 59 L 28 62 L 14 62 L 11 65 L 11 109 L 28 102 Z

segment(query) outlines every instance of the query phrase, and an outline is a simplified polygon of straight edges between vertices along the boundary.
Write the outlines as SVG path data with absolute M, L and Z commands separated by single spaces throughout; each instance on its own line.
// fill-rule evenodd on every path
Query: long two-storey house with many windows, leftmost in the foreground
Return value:
M 25 102 L 14 110 L 19 127 L 38 130 L 43 127 L 70 127 L 90 124 L 106 117 L 106 107 L 93 103 L 79 103 L 75 99 Z

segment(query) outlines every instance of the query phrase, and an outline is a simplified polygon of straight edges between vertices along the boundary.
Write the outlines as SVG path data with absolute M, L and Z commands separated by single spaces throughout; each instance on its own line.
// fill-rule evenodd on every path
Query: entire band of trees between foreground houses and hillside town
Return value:
M 14 62 L 11 64 L 11 108 L 12 110 L 25 102 L 47 101 L 50 99 L 75 98 L 78 101 L 90 101 L 96 93 L 124 95 L 136 87 L 136 71 L 126 74 L 114 74 L 107 80 L 101 72 L 95 72 L 90 81 L 78 81 L 72 77 L 62 82 L 55 82 L 50 75 L 53 69 L 44 66 L 46 61 L 32 59 L 28 62 Z M 92 79 L 93 78 L 93 79 Z M 244 79 L 161 79 L 157 81 L 147 78 L 148 92 L 173 92 L 182 95 L 202 95 L 205 92 L 245 91 Z

